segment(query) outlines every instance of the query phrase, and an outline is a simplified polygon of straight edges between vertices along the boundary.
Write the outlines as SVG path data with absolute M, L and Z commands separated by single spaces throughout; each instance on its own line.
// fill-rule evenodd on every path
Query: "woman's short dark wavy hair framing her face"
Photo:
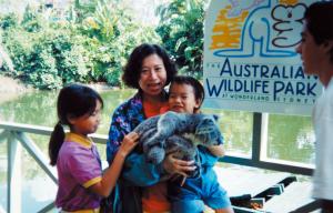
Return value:
M 167 51 L 158 44 L 143 43 L 133 50 L 127 65 L 124 67 L 122 80 L 128 87 L 140 89 L 139 79 L 142 69 L 142 62 L 151 54 L 158 54 L 163 60 L 167 71 L 165 85 L 170 83 L 171 79 L 176 73 L 176 69 Z

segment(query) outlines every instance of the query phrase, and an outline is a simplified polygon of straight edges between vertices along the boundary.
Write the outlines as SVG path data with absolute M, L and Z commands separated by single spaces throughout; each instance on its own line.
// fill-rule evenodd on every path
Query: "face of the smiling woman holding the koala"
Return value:
M 142 61 L 139 85 L 145 95 L 159 95 L 167 82 L 167 70 L 158 54 L 150 54 Z

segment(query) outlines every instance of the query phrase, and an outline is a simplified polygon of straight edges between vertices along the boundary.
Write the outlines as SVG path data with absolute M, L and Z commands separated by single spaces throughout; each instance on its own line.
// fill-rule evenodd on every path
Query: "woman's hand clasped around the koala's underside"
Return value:
M 194 161 L 182 161 L 175 159 L 173 156 L 173 153 L 167 155 L 167 158 L 163 161 L 164 170 L 171 175 L 181 174 L 183 176 L 188 176 L 186 172 L 191 172 L 196 169 L 196 166 L 193 164 Z

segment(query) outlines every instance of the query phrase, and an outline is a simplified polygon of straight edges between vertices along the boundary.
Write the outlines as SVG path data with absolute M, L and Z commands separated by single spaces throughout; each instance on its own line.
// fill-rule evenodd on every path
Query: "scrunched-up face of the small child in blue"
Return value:
M 174 112 L 194 113 L 200 100 L 194 97 L 194 89 L 189 84 L 172 83 L 169 94 L 169 108 Z

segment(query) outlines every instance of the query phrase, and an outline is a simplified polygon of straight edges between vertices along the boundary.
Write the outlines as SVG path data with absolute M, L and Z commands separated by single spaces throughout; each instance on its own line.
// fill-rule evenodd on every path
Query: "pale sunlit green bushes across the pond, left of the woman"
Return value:
M 43 16 L 28 6 L 21 22 L 14 16 L 0 19 L 2 40 L 14 63 L 13 77 L 39 89 L 74 81 L 121 85 L 131 50 L 159 41 L 154 30 L 135 23 L 120 1 L 80 2 L 74 1 L 67 17 Z

